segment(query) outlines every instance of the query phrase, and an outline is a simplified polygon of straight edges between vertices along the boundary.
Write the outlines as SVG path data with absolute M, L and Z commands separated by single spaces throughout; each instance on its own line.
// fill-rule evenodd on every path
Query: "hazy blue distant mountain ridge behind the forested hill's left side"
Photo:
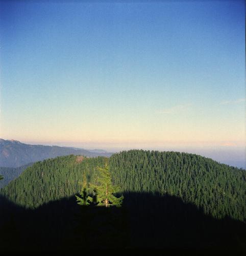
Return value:
M 110 157 L 112 153 L 103 150 L 84 150 L 83 148 L 31 145 L 17 140 L 0 139 L 0 166 L 2 167 L 19 167 L 44 159 L 67 155 Z

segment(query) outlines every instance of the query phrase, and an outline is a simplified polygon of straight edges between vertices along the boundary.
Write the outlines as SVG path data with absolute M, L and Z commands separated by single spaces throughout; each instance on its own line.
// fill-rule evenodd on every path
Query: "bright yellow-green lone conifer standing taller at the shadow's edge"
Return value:
M 90 187 L 95 192 L 97 205 L 105 207 L 121 206 L 124 197 L 117 198 L 114 196 L 120 189 L 119 186 L 112 185 L 108 159 L 105 159 L 103 168 L 97 167 L 97 171 L 99 172 L 99 176 L 96 178 L 97 185 L 90 183 Z M 89 200 L 93 202 L 94 198 L 90 197 Z

